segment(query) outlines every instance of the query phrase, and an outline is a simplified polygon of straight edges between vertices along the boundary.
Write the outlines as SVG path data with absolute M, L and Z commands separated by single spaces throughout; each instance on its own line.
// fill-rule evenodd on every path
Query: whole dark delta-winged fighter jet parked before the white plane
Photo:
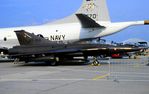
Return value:
M 88 56 L 108 56 L 140 50 L 137 47 L 112 46 L 108 44 L 57 43 L 24 30 L 15 31 L 15 33 L 20 46 L 14 46 L 9 49 L 9 57 L 26 63 L 44 61 L 51 65 L 58 65 L 65 61 L 75 61 L 75 57 L 83 57 L 83 60 L 87 61 Z M 94 59 L 93 63 L 95 65 L 99 63 L 97 58 Z

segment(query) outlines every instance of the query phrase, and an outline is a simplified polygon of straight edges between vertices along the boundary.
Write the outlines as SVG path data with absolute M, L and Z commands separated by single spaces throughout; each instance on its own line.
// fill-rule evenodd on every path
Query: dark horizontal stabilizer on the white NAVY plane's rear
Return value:
M 76 14 L 76 16 L 80 20 L 83 28 L 105 28 L 85 14 Z

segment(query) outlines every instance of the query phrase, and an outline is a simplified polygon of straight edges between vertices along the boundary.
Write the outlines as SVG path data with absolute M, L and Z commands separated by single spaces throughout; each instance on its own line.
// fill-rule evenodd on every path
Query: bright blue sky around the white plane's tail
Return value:
M 0 27 L 42 24 L 75 12 L 82 0 L 0 0 Z M 107 0 L 112 22 L 149 19 L 149 0 Z M 149 41 L 149 26 L 133 26 L 106 37 L 123 41 L 139 38 Z

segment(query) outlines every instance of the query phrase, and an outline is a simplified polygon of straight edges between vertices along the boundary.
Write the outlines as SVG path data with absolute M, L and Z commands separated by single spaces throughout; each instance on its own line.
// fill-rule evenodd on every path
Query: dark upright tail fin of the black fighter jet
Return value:
M 40 44 L 50 42 L 49 40 L 43 37 L 34 35 L 32 33 L 28 33 L 24 30 L 19 30 L 19 31 L 14 31 L 14 32 L 17 35 L 20 45 L 40 45 Z

